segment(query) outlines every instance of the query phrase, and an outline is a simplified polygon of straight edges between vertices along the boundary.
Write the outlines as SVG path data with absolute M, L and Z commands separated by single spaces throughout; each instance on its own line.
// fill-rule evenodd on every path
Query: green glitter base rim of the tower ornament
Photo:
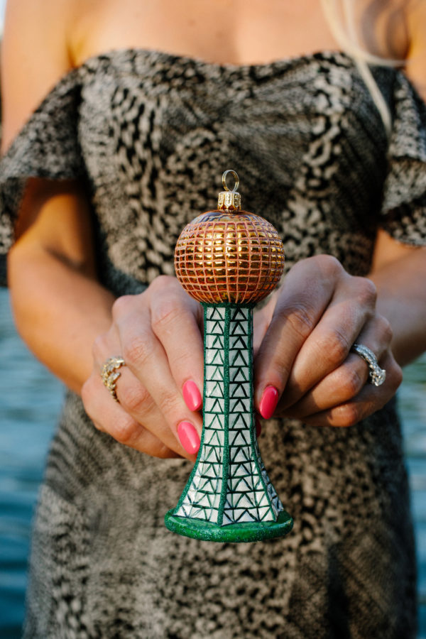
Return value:
M 274 537 L 284 537 L 293 528 L 293 518 L 285 510 L 277 521 L 253 521 L 218 526 L 201 519 L 173 515 L 175 508 L 165 514 L 165 525 L 179 535 L 217 542 L 255 542 Z

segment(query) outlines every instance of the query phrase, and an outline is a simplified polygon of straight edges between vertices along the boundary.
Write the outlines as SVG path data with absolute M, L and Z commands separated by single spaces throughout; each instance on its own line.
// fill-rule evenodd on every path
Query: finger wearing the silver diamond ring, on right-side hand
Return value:
M 378 361 L 391 343 L 392 331 L 388 320 L 376 316 L 367 322 L 361 334 L 356 337 L 376 354 Z M 277 412 L 298 419 L 348 402 L 365 386 L 368 380 L 368 366 L 359 355 L 349 354 L 344 363 L 325 376 L 299 401 L 290 406 L 278 405 Z M 285 401 L 285 394 L 282 399 Z

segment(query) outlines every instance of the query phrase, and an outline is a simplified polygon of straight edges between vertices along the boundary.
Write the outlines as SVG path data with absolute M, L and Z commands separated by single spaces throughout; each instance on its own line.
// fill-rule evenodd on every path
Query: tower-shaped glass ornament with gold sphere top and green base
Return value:
M 178 280 L 204 307 L 204 403 L 197 461 L 165 525 L 195 539 L 252 542 L 293 528 L 263 465 L 253 413 L 253 307 L 283 275 L 284 250 L 272 224 L 241 211 L 235 171 L 222 184 L 217 210 L 187 224 L 175 249 Z

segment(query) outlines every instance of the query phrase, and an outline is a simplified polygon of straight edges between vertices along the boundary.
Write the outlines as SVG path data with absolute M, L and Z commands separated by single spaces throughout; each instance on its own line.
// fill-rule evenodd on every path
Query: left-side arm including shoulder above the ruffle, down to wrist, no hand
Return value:
M 71 68 L 71 14 L 70 0 L 7 4 L 1 50 L 3 151 Z M 89 219 L 86 197 L 76 183 L 30 180 L 8 264 L 13 312 L 23 339 L 75 391 L 92 368 L 87 344 L 109 326 L 113 301 L 94 281 Z M 59 300 L 67 307 L 63 314 Z M 57 352 L 53 344 L 62 344 L 62 349 Z

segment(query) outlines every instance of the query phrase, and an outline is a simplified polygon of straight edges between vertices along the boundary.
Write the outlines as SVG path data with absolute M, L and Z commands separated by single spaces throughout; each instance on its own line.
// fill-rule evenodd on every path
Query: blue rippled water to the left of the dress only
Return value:
M 0 357 L 0 637 L 16 639 L 31 517 L 63 390 L 18 338 L 1 289 Z

